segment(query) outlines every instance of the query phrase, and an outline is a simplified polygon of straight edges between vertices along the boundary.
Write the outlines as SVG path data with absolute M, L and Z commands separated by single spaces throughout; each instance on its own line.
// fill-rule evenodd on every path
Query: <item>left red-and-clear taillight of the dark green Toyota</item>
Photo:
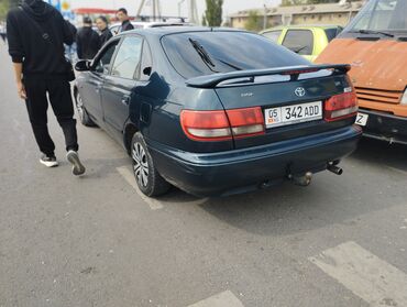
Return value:
M 183 110 L 180 124 L 194 141 L 227 141 L 233 136 L 246 138 L 265 132 L 260 107 L 228 111 Z

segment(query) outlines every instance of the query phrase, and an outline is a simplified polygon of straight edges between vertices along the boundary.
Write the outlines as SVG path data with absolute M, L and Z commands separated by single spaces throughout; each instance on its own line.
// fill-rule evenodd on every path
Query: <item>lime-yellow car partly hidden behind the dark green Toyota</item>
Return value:
M 339 25 L 288 25 L 268 29 L 261 34 L 314 62 L 341 31 Z

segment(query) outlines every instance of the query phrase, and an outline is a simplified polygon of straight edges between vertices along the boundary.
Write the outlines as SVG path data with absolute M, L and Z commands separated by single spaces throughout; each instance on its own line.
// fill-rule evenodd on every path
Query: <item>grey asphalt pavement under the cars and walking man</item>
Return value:
M 0 43 L 0 307 L 407 306 L 407 147 L 363 140 L 344 174 L 228 198 L 142 197 L 78 124 L 87 175 L 38 163 Z

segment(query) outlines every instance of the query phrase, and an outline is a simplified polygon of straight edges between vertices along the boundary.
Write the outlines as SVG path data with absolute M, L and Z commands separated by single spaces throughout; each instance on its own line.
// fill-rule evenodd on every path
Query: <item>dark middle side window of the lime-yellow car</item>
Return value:
M 301 55 L 310 55 L 314 51 L 314 35 L 309 30 L 288 30 L 283 46 Z

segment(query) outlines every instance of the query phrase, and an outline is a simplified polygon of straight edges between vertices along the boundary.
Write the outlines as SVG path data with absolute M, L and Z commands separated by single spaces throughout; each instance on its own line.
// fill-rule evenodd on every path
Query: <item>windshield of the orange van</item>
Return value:
M 345 32 L 407 32 L 407 0 L 370 0 Z

